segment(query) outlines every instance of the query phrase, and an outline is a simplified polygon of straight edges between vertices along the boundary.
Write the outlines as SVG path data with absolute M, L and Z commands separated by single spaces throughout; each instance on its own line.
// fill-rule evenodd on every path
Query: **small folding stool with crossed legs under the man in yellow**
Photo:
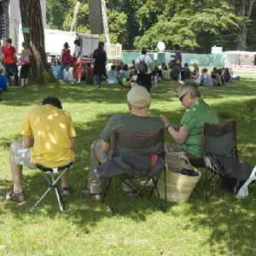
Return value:
M 57 201 L 58 204 L 60 206 L 60 210 L 61 212 L 63 212 L 64 210 L 64 204 L 62 201 L 62 197 L 61 197 L 61 193 L 60 193 L 60 189 L 58 187 L 58 181 L 60 180 L 60 178 L 63 176 L 63 174 L 65 172 L 67 172 L 67 170 L 73 165 L 73 161 L 70 162 L 69 164 L 67 164 L 66 166 L 60 166 L 60 167 L 56 167 L 56 168 L 49 168 L 49 167 L 45 167 L 45 166 L 41 166 L 39 164 L 37 164 L 36 166 L 38 167 L 38 169 L 43 173 L 43 176 L 45 177 L 45 179 L 47 180 L 48 184 L 49 184 L 49 188 L 45 191 L 44 195 L 42 195 L 40 197 L 40 199 L 37 201 L 37 203 L 34 205 L 33 209 L 35 209 L 36 207 L 38 207 L 38 204 L 44 199 L 44 196 L 47 195 L 49 193 L 50 189 L 54 189 L 55 190 L 55 194 L 57 197 Z M 61 174 L 55 178 L 54 174 L 58 174 L 59 171 L 62 171 Z M 51 176 L 51 180 L 49 179 L 49 177 L 47 177 L 45 172 L 50 172 L 50 176 Z

